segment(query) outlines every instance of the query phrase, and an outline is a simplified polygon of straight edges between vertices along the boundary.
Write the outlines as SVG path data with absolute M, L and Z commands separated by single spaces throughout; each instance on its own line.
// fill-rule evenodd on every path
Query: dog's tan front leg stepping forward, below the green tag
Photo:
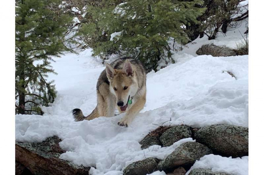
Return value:
M 141 111 L 146 103 L 146 98 L 141 97 L 134 103 L 133 106 L 126 112 L 126 115 L 117 123 L 119 126 L 125 126 L 128 127 L 128 124 L 130 124 L 135 116 Z

